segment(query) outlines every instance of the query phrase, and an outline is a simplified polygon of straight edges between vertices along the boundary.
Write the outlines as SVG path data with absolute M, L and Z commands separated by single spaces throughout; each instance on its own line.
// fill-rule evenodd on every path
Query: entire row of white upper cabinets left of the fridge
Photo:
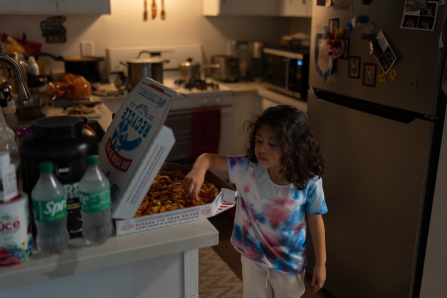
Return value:
M 202 0 L 202 13 L 311 17 L 312 0 Z

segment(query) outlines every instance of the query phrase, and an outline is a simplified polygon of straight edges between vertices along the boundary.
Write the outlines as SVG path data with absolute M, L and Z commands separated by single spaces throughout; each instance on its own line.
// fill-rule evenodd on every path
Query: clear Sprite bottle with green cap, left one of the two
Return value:
M 67 195 L 53 174 L 51 161 L 39 163 L 40 176 L 31 192 L 39 251 L 61 253 L 68 247 Z

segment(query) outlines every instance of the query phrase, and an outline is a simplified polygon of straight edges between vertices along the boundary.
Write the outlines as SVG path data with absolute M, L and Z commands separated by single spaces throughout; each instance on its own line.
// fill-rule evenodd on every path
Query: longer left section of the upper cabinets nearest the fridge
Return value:
M 202 0 L 203 15 L 278 15 L 272 0 Z

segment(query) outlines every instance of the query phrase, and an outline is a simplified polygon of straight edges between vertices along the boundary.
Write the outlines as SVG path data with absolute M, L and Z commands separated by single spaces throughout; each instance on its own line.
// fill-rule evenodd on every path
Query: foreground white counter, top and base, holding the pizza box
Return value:
M 0 297 L 33 296 L 46 287 L 55 294 L 46 297 L 149 297 L 149 290 L 153 294 L 160 288 L 166 288 L 162 296 L 150 297 L 180 297 L 170 291 L 192 297 L 198 286 L 198 248 L 217 245 L 218 235 L 208 220 L 199 220 L 113 236 L 99 246 L 74 238 L 67 251 L 49 257 L 35 249 L 29 261 L 0 269 Z M 95 285 L 90 295 L 84 291 L 88 284 Z

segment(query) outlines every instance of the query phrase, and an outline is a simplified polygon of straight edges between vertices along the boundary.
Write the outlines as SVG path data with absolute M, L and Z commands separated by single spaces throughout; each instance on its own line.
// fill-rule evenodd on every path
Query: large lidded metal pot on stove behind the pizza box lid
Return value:
M 149 58 L 140 58 L 141 54 L 148 53 Z M 127 88 L 131 90 L 144 77 L 149 77 L 159 83 L 163 83 L 163 64 L 169 60 L 161 59 L 159 56 L 152 56 L 154 53 L 141 51 L 136 59 L 127 62 L 120 62 L 127 66 Z

